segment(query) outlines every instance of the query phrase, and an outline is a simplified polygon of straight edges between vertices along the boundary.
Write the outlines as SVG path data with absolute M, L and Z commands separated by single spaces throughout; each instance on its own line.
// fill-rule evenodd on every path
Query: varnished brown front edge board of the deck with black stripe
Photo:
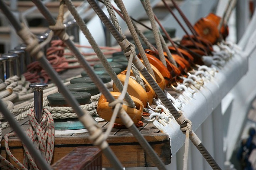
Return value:
M 167 134 L 146 134 L 143 135 L 155 152 L 163 159 L 164 164 L 170 164 L 170 141 Z M 146 153 L 132 135 L 110 135 L 108 143 L 113 152 L 117 155 L 125 167 L 154 166 L 153 161 L 145 157 Z M 1 155 L 6 157 L 4 140 L 1 142 Z M 93 146 L 88 136 L 83 137 L 56 137 L 53 162 L 71 152 L 78 146 Z M 23 159 L 23 149 L 18 138 L 10 138 L 9 147 L 13 155 L 20 161 Z M 13 161 L 11 161 L 13 163 Z M 110 167 L 110 164 L 103 156 L 103 166 Z

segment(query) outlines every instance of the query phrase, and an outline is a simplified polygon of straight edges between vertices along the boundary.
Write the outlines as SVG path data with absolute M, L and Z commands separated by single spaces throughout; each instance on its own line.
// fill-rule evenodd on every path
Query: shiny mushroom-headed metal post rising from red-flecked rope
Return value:
M 46 83 L 32 83 L 29 87 L 34 90 L 34 110 L 38 123 L 43 116 L 43 90 L 47 87 Z

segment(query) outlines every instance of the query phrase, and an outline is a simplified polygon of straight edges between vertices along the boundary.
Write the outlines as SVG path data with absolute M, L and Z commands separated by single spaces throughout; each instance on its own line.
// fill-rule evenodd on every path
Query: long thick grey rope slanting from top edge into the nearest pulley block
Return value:
M 67 4 L 67 7 L 68 7 L 69 11 L 73 15 L 73 17 L 76 19 L 77 24 L 80 27 L 80 29 L 82 30 L 83 34 L 86 36 L 86 38 L 88 39 L 89 43 L 93 47 L 94 52 L 97 53 L 97 56 L 99 57 L 100 61 L 102 62 L 103 66 L 105 67 L 107 72 L 109 73 L 111 79 L 113 79 L 113 81 L 115 82 L 116 87 L 118 88 L 119 91 L 122 91 L 123 90 L 123 86 L 122 86 L 121 81 L 117 78 L 116 73 L 114 72 L 113 68 L 110 66 L 110 64 L 107 61 L 106 57 L 104 56 L 104 54 L 100 50 L 98 44 L 96 43 L 96 41 L 92 37 L 92 35 L 89 32 L 85 22 L 78 15 L 78 12 L 76 11 L 75 6 L 73 6 L 71 0 L 64 0 L 64 1 Z M 125 94 L 125 99 L 126 99 L 126 101 L 127 101 L 127 103 L 129 104 L 130 107 L 135 108 L 135 103 L 132 101 L 130 95 L 127 92 Z

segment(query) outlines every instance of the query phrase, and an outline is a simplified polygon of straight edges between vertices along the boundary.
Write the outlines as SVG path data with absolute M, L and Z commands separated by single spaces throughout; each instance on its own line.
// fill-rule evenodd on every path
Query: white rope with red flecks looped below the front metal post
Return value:
M 26 134 L 31 138 L 34 145 L 42 153 L 43 157 L 48 164 L 51 163 L 54 151 L 54 122 L 51 113 L 47 109 L 43 110 L 43 117 L 40 123 L 37 123 L 34 111 L 31 109 L 28 112 L 29 115 L 29 128 L 26 130 Z M 24 146 L 24 159 L 23 164 L 19 162 L 11 153 L 8 145 L 9 137 L 16 136 L 16 132 L 12 132 L 4 135 L 5 139 L 5 151 L 9 158 L 11 158 L 21 169 L 35 169 L 38 170 L 34 159 L 28 152 L 26 146 Z M 0 155 L 0 167 L 4 169 L 18 169 L 15 168 L 8 160 Z

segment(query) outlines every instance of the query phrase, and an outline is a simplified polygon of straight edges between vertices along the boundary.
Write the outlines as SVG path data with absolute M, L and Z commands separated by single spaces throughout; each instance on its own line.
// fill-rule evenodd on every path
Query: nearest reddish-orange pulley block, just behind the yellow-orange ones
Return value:
M 149 63 L 151 63 L 153 66 L 159 70 L 159 72 L 162 74 L 165 80 L 165 84 L 168 84 L 169 81 L 173 78 L 171 77 L 170 71 L 164 66 L 164 64 L 158 60 L 156 57 L 149 55 L 146 53 L 146 56 L 148 58 Z M 138 54 L 138 57 L 140 57 L 140 54 Z

